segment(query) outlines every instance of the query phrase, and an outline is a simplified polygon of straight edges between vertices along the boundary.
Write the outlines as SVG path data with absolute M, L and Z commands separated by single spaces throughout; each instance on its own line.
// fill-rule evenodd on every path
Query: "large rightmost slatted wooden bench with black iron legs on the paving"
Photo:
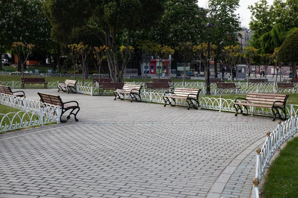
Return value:
M 236 109 L 235 116 L 238 114 L 238 110 L 242 115 L 247 115 L 248 110 L 247 106 L 256 106 L 256 107 L 265 107 L 271 108 L 272 113 L 274 114 L 274 118 L 272 121 L 275 121 L 276 115 L 279 116 L 281 120 L 286 120 L 286 102 L 289 95 L 283 94 L 260 94 L 260 93 L 248 93 L 246 99 L 244 98 L 237 98 L 234 101 L 234 107 Z M 245 100 L 243 102 L 237 100 Z M 246 113 L 243 112 L 241 106 L 243 106 L 246 110 Z M 281 113 L 279 110 L 282 110 L 285 118 L 282 118 Z

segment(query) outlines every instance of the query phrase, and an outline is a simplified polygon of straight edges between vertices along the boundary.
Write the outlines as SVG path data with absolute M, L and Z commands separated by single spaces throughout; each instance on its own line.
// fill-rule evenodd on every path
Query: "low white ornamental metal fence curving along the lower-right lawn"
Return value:
M 281 121 L 278 121 L 277 128 L 271 133 L 266 133 L 266 140 L 262 148 L 256 149 L 256 173 L 255 178 L 253 178 L 253 198 L 259 198 L 260 184 L 273 155 L 277 150 L 281 149 L 281 146 L 285 142 L 294 138 L 294 135 L 298 133 L 298 116 L 294 116 L 294 112 L 291 112 L 291 115 L 292 117 L 282 124 Z

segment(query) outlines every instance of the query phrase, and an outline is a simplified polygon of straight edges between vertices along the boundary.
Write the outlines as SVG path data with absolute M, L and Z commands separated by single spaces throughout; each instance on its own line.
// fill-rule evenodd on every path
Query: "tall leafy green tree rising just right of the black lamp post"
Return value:
M 221 55 L 220 43 L 224 41 L 226 45 L 235 45 L 236 35 L 234 32 L 241 29 L 239 27 L 239 15 L 235 14 L 239 7 L 239 0 L 209 0 L 208 3 L 208 20 L 214 26 L 211 42 L 218 47 L 214 56 L 215 77 L 217 78 L 217 62 Z M 207 37 L 205 36 L 205 38 Z

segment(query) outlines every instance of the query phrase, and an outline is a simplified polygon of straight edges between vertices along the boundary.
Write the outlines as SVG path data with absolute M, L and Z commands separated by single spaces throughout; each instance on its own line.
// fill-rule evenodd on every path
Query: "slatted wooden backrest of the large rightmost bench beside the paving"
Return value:
M 270 104 L 273 105 L 286 105 L 289 95 L 286 94 L 261 94 L 261 93 L 248 93 L 246 96 L 246 102 L 257 104 Z

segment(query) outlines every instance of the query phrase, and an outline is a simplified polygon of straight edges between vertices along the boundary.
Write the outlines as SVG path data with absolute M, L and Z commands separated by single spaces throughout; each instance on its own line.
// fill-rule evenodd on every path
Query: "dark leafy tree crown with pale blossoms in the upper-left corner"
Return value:
M 11 50 L 13 42 L 34 44 L 34 49 L 44 50 L 50 42 L 49 25 L 42 12 L 41 0 L 1 0 L 0 57 Z M 26 69 L 26 64 L 23 66 Z M 21 64 L 17 71 L 21 71 Z

